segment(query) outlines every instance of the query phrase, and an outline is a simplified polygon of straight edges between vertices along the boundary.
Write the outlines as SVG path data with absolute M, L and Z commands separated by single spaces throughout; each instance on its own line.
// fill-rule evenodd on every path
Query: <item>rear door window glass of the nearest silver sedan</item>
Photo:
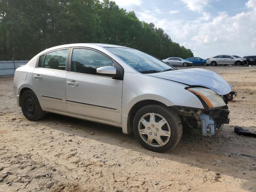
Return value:
M 68 56 L 68 49 L 62 49 L 47 53 L 45 55 L 44 64 L 41 66 L 42 68 L 48 69 L 58 69 L 58 70 L 65 70 L 66 67 L 66 60 Z M 42 56 L 41 56 L 42 57 Z M 41 57 L 39 60 L 41 60 Z M 38 64 L 39 67 L 39 64 Z

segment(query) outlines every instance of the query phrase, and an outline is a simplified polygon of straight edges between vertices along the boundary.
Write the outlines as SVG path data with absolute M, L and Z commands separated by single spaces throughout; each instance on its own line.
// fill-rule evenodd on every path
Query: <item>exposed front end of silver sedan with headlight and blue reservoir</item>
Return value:
M 183 127 L 192 128 L 203 136 L 212 136 L 223 124 L 229 124 L 229 110 L 224 101 L 226 97 L 203 87 L 190 87 L 187 90 L 200 99 L 204 109 L 175 106 Z

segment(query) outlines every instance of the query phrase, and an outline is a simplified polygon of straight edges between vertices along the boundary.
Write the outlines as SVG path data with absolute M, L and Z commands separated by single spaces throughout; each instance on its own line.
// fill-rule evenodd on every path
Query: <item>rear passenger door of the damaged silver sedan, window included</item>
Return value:
M 67 112 L 66 66 L 69 49 L 49 52 L 40 56 L 33 71 L 33 87 L 43 109 Z

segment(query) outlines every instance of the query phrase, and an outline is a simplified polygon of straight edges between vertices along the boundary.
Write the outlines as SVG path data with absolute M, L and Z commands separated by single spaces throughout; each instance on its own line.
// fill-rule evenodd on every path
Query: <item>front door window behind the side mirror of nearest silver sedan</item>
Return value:
M 113 66 L 112 60 L 94 50 L 73 49 L 71 71 L 96 75 L 96 69 L 103 66 Z

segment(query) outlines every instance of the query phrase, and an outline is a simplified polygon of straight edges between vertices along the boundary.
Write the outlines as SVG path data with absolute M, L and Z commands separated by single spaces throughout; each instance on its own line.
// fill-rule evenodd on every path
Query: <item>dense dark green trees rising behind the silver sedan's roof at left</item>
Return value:
M 128 46 L 160 59 L 193 56 L 113 1 L 0 0 L 0 60 L 26 60 L 52 46 L 87 42 Z

